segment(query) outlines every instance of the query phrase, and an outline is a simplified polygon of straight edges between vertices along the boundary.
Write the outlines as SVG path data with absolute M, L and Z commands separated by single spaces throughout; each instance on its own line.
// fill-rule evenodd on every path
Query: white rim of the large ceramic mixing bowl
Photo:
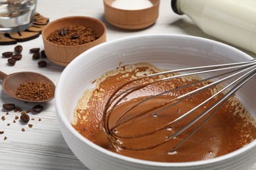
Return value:
M 111 156 L 111 157 L 116 158 L 118 160 L 129 161 L 131 163 L 137 163 L 137 164 L 140 164 L 140 165 L 150 165 L 152 167 L 190 167 L 190 166 L 198 166 L 198 165 L 205 165 L 205 164 L 209 164 L 209 163 L 215 163 L 215 162 L 218 162 L 218 161 L 229 160 L 230 158 L 235 157 L 235 156 L 239 156 L 243 152 L 246 152 L 247 150 L 250 150 L 250 148 L 252 148 L 253 146 L 256 146 L 256 140 L 254 140 L 251 143 L 246 144 L 242 148 L 240 148 L 238 150 L 235 150 L 234 152 L 230 152 L 230 153 L 225 154 L 223 156 L 219 156 L 217 158 L 212 158 L 212 159 L 209 159 L 209 160 L 188 161 L 188 162 L 160 162 L 160 161 L 139 160 L 137 158 L 130 158 L 128 156 L 123 156 L 123 155 L 120 155 L 120 154 L 116 154 L 114 152 L 106 150 L 105 148 L 102 148 L 101 146 L 98 146 L 97 144 L 89 141 L 88 139 L 83 137 L 80 133 L 78 133 L 74 129 L 74 127 L 71 125 L 71 123 L 68 121 L 66 116 L 62 116 L 63 110 L 62 110 L 62 107 L 61 107 L 60 103 L 58 102 L 58 101 L 61 100 L 60 93 L 62 92 L 61 91 L 62 84 L 65 83 L 65 80 L 64 80 L 65 78 L 64 77 L 68 75 L 68 72 L 71 71 L 73 65 L 77 65 L 77 64 L 81 63 L 81 61 L 80 61 L 81 56 L 85 56 L 87 54 L 90 54 L 91 52 L 96 51 L 98 48 L 104 48 L 104 46 L 110 46 L 112 44 L 121 43 L 123 41 L 131 41 L 133 39 L 142 39 L 143 37 L 158 37 L 158 38 L 159 37 L 165 37 L 165 38 L 169 37 L 170 39 L 172 37 L 182 37 L 182 38 L 186 38 L 186 39 L 194 39 L 194 40 L 199 40 L 199 41 L 201 40 L 201 41 L 205 41 L 205 42 L 211 42 L 213 44 L 219 44 L 219 45 L 223 46 L 224 48 L 227 48 L 228 50 L 232 50 L 232 51 L 244 56 L 245 59 L 246 58 L 247 59 L 253 59 L 251 56 L 249 56 L 245 52 L 242 52 L 241 50 L 238 50 L 237 48 L 229 46 L 228 44 L 224 44 L 223 42 L 214 41 L 214 40 L 206 39 L 206 38 L 203 38 L 203 37 L 196 37 L 196 36 L 192 36 L 192 35 L 177 35 L 177 34 L 168 34 L 168 33 L 133 35 L 133 36 L 123 37 L 123 38 L 108 41 L 108 42 L 103 42 L 102 44 L 98 44 L 97 46 L 94 46 L 93 48 L 90 48 L 89 50 L 87 50 L 86 52 L 83 52 L 77 58 L 72 60 L 70 62 L 70 64 L 64 69 L 62 74 L 60 75 L 60 78 L 58 79 L 58 83 L 56 85 L 55 107 L 56 107 L 57 117 L 62 121 L 62 123 L 66 126 L 66 128 L 77 139 L 79 139 L 83 143 L 86 143 L 87 145 L 94 148 L 95 150 L 98 150 L 102 154 L 105 154 L 106 156 Z

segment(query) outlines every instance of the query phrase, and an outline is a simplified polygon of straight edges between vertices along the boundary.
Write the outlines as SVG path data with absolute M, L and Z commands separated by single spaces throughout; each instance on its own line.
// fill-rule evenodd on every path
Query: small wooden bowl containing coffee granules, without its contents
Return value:
M 94 29 L 98 34 L 98 39 L 87 44 L 77 46 L 64 46 L 54 44 L 53 42 L 47 41 L 47 37 L 50 33 L 56 29 L 67 27 L 70 25 L 82 25 Z M 79 54 L 85 52 L 89 48 L 96 46 L 102 42 L 106 42 L 106 25 L 100 20 L 90 18 L 87 16 L 69 16 L 66 18 L 60 18 L 47 24 L 42 31 L 43 44 L 45 48 L 45 54 L 53 63 L 57 65 L 66 66 Z

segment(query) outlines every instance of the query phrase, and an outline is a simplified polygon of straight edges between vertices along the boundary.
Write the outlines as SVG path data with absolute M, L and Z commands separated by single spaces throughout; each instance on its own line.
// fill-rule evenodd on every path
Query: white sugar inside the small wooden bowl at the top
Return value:
M 124 10 L 140 10 L 152 6 L 153 4 L 149 0 L 116 0 L 112 3 L 112 7 Z

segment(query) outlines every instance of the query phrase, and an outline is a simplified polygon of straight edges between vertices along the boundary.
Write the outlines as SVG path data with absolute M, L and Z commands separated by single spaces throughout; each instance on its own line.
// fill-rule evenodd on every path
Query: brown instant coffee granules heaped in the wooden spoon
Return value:
M 16 97 L 30 101 L 43 101 L 53 95 L 50 84 L 44 82 L 28 82 L 20 84 L 16 90 Z

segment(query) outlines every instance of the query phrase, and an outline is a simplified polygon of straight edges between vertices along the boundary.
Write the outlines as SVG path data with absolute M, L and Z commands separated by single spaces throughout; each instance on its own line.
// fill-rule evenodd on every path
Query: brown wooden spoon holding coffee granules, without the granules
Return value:
M 41 75 L 39 73 L 18 72 L 18 73 L 12 73 L 11 75 L 6 75 L 5 73 L 0 71 L 0 79 L 3 80 L 3 84 L 2 84 L 3 91 L 15 99 L 25 101 L 25 102 L 37 103 L 37 102 L 50 101 L 51 99 L 54 98 L 54 90 L 55 90 L 54 83 L 46 76 Z M 51 97 L 49 97 L 48 99 L 39 100 L 39 101 L 26 100 L 26 99 L 21 99 L 16 97 L 16 90 L 18 87 L 20 87 L 20 84 L 24 84 L 28 82 L 43 82 L 45 84 L 50 84 L 53 95 L 51 95 Z

